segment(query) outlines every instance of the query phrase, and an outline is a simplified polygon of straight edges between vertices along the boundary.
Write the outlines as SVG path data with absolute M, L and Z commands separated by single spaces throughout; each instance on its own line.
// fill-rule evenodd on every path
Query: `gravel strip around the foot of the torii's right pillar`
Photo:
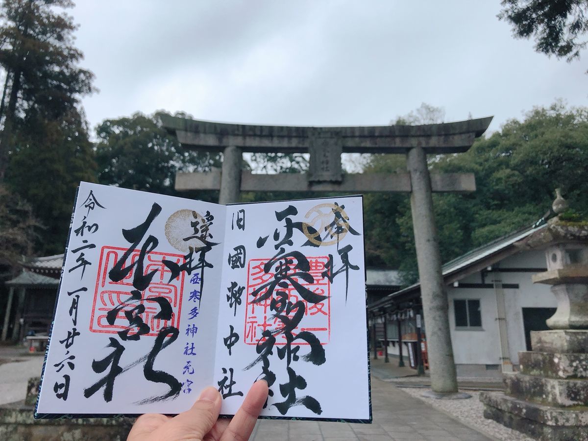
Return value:
M 466 400 L 436 400 L 423 397 L 422 393 L 430 389 L 416 387 L 399 387 L 413 397 L 423 400 L 425 403 L 442 410 L 445 413 L 457 418 L 467 426 L 483 430 L 487 435 L 495 437 L 500 441 L 536 441 L 517 430 L 509 429 L 493 420 L 483 416 L 484 406 L 480 402 L 480 393 L 475 390 L 467 390 L 472 395 Z

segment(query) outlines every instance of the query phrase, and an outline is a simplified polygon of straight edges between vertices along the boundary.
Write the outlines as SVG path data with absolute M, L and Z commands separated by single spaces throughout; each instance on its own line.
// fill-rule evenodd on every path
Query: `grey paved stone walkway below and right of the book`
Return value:
M 260 420 L 252 441 L 435 440 L 489 441 L 389 382 L 372 376 L 372 424 Z

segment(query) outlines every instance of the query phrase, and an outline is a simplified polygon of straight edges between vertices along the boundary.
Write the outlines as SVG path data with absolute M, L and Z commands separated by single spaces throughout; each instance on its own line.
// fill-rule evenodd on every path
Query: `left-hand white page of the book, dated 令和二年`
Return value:
M 143 232 L 141 225 L 147 226 Z M 214 376 L 224 228 L 224 206 L 81 183 L 36 413 L 188 409 Z M 125 239 L 123 229 L 135 230 Z M 202 256 L 202 239 L 219 244 L 210 245 L 205 255 L 213 267 L 189 274 L 188 268 L 198 266 Z M 189 247 L 196 250 L 191 265 L 184 259 Z M 129 249 L 133 251 L 123 259 Z M 172 278 L 173 268 L 163 259 L 175 263 L 176 269 L 180 266 L 178 276 Z M 117 262 L 121 268 L 115 268 Z M 123 274 L 129 266 L 131 271 Z M 113 269 L 114 279 L 120 280 L 113 280 Z M 152 272 L 150 282 L 136 277 Z M 139 300 L 132 299 L 132 290 L 138 291 Z M 126 340 L 119 335 L 125 329 L 130 329 Z M 161 352 L 156 350 L 158 343 L 164 345 Z M 109 373 L 112 382 L 106 380 Z M 171 396 L 158 399 L 166 395 Z

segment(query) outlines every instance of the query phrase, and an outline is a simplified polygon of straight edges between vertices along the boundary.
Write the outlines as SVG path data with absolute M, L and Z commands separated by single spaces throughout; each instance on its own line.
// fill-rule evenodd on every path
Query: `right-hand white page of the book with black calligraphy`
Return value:
M 276 212 L 283 212 L 283 219 L 278 220 Z M 275 381 L 270 385 L 273 396 L 263 416 L 369 420 L 362 198 L 230 205 L 226 225 L 215 366 L 215 385 L 221 386 L 224 397 L 221 413 L 236 412 L 250 385 L 264 377 L 266 364 L 271 372 L 266 377 L 272 383 L 275 375 Z M 260 247 L 259 238 L 266 238 L 263 245 L 260 241 Z M 319 246 L 303 246 L 309 238 Z M 329 255 L 332 281 L 322 275 Z M 272 258 L 275 259 L 266 272 L 264 266 Z M 286 258 L 291 261 L 286 263 Z M 345 259 L 349 263 L 347 270 Z M 302 260 L 309 269 L 295 268 L 297 263 L 304 266 Z M 278 270 L 280 266 L 282 271 Z M 309 275 L 312 277 L 305 281 Z M 275 286 L 267 300 L 253 303 L 276 280 L 285 282 L 285 288 Z M 293 282 L 327 297 L 316 303 L 316 299 L 305 300 Z M 256 289 L 260 289 L 257 295 Z M 272 299 L 280 298 L 280 290 L 286 293 L 283 301 L 272 307 Z M 285 323 L 275 315 L 280 305 L 286 306 L 286 300 L 291 305 L 300 300 L 304 313 L 295 329 L 280 332 Z M 296 321 L 297 311 L 302 309 L 292 308 L 289 313 L 283 310 L 281 315 Z M 273 337 L 263 338 L 264 328 L 273 332 Z M 298 336 L 292 341 L 290 355 L 286 353 L 288 334 Z M 320 342 L 317 364 L 305 360 L 310 346 L 302 336 Z M 273 345 L 271 338 L 275 338 Z M 260 354 L 258 347 L 262 349 Z M 300 377 L 291 381 L 290 375 Z M 295 382 L 294 389 L 286 390 Z

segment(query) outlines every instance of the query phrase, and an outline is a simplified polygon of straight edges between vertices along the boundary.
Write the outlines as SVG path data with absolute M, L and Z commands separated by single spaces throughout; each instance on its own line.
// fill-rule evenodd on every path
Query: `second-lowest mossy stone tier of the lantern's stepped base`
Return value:
M 548 406 L 588 406 L 588 380 L 561 380 L 523 373 L 504 373 L 506 394 Z

